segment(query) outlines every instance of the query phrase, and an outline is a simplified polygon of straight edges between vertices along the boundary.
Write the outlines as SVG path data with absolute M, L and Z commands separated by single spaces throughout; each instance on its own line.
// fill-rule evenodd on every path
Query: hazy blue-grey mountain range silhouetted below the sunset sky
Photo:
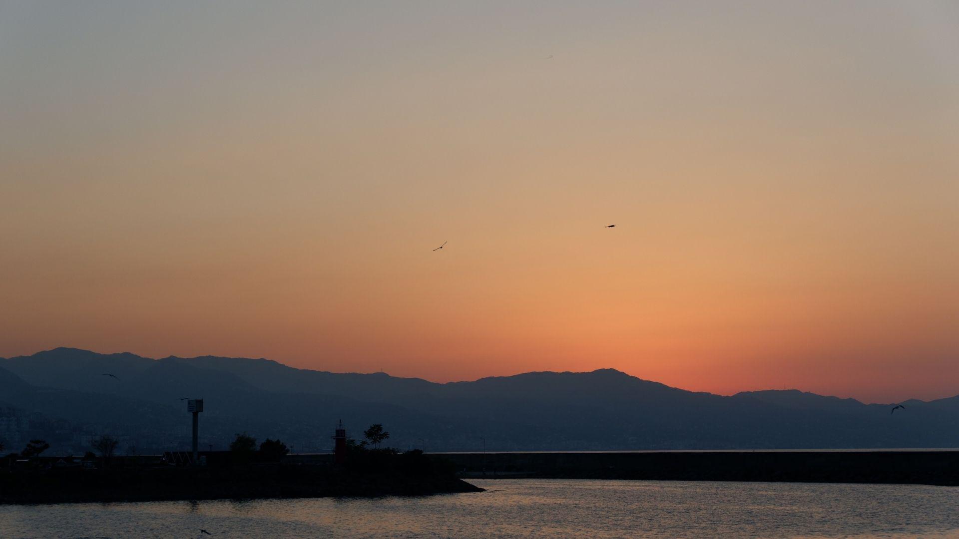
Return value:
M 392 445 L 428 451 L 798 449 L 959 446 L 959 396 L 906 410 L 798 390 L 692 392 L 614 369 L 475 382 L 298 369 L 265 359 L 102 355 L 57 348 L 0 360 L 0 400 L 126 435 L 184 444 L 184 397 L 205 399 L 201 432 L 281 436 L 325 451 L 333 424 L 383 423 Z M 110 373 L 117 379 L 102 376 Z M 202 437 L 201 436 L 201 437 Z

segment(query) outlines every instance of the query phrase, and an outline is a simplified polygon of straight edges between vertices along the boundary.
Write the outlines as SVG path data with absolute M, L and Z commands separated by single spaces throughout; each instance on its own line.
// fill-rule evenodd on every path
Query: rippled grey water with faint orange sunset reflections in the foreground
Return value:
M 426 498 L 0 505 L 0 537 L 959 537 L 959 487 L 477 480 Z

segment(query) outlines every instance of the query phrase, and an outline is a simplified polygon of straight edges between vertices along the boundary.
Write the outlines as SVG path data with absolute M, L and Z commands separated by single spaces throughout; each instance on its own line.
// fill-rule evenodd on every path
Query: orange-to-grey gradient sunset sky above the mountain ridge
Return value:
M 957 150 L 950 1 L 0 0 L 0 356 L 951 396 Z

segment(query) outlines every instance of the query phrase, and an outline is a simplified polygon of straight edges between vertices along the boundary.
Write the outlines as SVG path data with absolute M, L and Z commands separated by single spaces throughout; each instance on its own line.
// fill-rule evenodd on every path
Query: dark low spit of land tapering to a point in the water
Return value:
M 482 489 L 452 470 L 328 464 L 106 467 L 0 472 L 0 504 L 422 496 Z

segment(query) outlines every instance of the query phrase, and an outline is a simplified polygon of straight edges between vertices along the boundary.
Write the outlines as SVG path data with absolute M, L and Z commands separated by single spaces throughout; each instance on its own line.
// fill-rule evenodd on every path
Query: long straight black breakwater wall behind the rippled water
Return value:
M 443 454 L 459 477 L 959 485 L 956 451 Z

